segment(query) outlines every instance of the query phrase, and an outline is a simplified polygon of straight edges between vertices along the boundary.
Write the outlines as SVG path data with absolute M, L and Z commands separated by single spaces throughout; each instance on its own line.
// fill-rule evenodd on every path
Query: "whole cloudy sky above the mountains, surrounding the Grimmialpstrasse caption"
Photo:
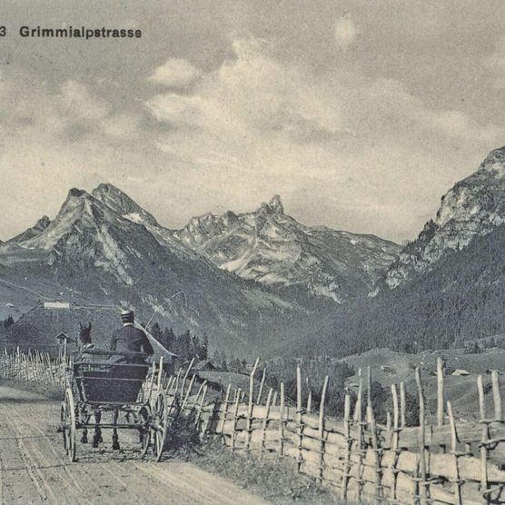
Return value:
M 0 240 L 108 182 L 171 228 L 278 193 L 302 223 L 401 243 L 505 144 L 501 1 L 41 5 L 2 2 Z

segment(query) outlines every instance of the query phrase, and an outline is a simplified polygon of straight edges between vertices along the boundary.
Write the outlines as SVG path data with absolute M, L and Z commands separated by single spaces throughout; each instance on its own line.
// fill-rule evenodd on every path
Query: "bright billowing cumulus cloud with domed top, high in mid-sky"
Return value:
M 193 126 L 209 134 L 337 134 L 338 101 L 330 104 L 310 73 L 287 68 L 268 54 L 258 39 L 233 42 L 235 58 L 204 75 L 193 94 L 157 94 L 147 101 L 152 114 L 177 127 Z

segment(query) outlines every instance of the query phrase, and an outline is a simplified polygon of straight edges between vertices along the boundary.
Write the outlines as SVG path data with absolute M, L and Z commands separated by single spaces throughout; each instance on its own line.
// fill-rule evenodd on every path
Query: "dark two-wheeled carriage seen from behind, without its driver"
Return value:
M 74 353 L 74 366 L 61 406 L 64 449 L 75 460 L 77 431 L 87 442 L 94 430 L 94 447 L 102 441 L 102 430 L 113 430 L 113 449 L 119 448 L 117 430 L 136 430 L 142 456 L 153 448 L 161 460 L 174 404 L 163 389 L 146 381 L 150 365 L 142 352 L 109 352 L 89 349 Z M 153 371 L 154 372 L 154 371 Z M 103 422 L 103 415 L 110 420 Z M 123 418 L 123 419 L 122 419 Z

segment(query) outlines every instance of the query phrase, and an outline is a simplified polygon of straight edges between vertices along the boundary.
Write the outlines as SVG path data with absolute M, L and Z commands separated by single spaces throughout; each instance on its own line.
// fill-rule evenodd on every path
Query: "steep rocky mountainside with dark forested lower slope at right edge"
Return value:
M 377 282 L 373 297 L 314 326 L 312 352 L 419 352 L 505 334 L 505 146 L 441 198 L 435 217 Z M 292 342 L 293 352 L 305 343 Z

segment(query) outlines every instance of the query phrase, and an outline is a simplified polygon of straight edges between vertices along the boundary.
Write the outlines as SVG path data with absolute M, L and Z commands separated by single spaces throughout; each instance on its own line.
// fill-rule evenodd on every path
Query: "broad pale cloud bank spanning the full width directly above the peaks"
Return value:
M 36 94 L 0 83 L 0 213 L 26 207 L 12 231 L 68 187 L 111 181 L 170 226 L 280 193 L 302 222 L 402 240 L 501 143 L 500 126 L 434 108 L 400 80 L 316 70 L 253 37 L 231 48 L 191 85 L 146 86 L 144 102 L 77 78 Z

